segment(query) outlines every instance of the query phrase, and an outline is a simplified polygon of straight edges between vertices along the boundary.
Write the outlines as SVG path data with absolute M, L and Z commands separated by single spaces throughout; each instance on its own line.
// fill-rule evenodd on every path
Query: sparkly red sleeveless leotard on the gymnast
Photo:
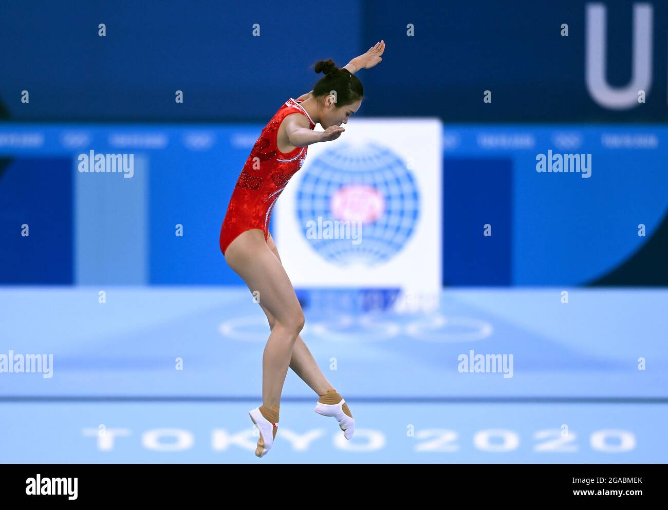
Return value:
M 276 138 L 281 121 L 291 113 L 301 113 L 308 117 L 309 129 L 315 127 L 315 122 L 299 103 L 301 101 L 292 97 L 285 101 L 255 142 L 220 228 L 220 251 L 223 254 L 239 234 L 251 228 L 263 230 L 265 241 L 269 238 L 271 210 L 290 178 L 303 165 L 308 151 L 308 147 L 297 147 L 287 153 L 279 151 Z

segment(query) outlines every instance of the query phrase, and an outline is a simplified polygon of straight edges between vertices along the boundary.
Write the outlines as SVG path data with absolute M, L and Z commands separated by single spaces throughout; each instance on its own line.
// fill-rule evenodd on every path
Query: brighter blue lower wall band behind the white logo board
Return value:
M 0 282 L 241 284 L 218 234 L 262 127 L 0 125 Z M 656 147 L 603 142 L 629 132 Z M 134 145 L 115 145 L 129 136 Z M 590 178 L 536 172 L 558 137 L 579 144 L 563 152 L 592 155 Z M 663 125 L 444 127 L 442 283 L 668 284 L 667 145 Z M 133 153 L 133 178 L 78 172 L 89 149 Z

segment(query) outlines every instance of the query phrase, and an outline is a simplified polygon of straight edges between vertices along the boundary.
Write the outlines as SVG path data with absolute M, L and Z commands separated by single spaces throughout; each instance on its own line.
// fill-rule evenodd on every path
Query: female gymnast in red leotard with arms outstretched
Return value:
M 304 314 L 276 244 L 267 230 L 271 210 L 290 178 L 301 168 L 308 146 L 336 140 L 364 95 L 354 73 L 382 61 L 385 42 L 338 69 L 331 60 L 315 64 L 322 77 L 307 94 L 288 99 L 265 126 L 232 192 L 220 229 L 220 250 L 227 264 L 257 296 L 269 320 L 269 340 L 262 360 L 263 404 L 248 414 L 260 432 L 255 455 L 271 449 L 279 422 L 279 404 L 288 367 L 315 391 L 315 412 L 335 417 L 346 439 L 355 421 L 343 397 L 333 389 L 302 340 Z M 323 132 L 313 128 L 320 123 Z M 256 294 L 257 292 L 257 294 Z

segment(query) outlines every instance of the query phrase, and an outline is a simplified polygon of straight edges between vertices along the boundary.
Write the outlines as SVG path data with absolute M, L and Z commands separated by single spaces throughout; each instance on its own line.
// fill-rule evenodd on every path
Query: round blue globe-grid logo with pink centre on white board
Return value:
M 419 216 L 420 195 L 406 162 L 375 143 L 343 144 L 323 153 L 297 189 L 304 237 L 320 256 L 339 266 L 389 260 L 405 246 Z M 360 226 L 359 241 L 307 235 L 309 225 L 335 221 Z

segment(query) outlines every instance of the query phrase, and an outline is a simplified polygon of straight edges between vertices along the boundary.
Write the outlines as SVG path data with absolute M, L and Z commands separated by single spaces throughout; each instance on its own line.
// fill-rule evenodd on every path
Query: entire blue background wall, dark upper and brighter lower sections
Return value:
M 603 2 L 606 79 L 617 87 L 631 78 L 635 4 Z M 645 4 L 647 102 L 613 110 L 585 85 L 581 0 L 5 3 L 0 283 L 240 284 L 217 236 L 255 138 L 285 99 L 313 87 L 321 75 L 309 66 L 345 65 L 384 39 L 383 63 L 359 72 L 357 116 L 444 121 L 444 285 L 668 285 L 668 3 Z M 114 152 L 118 132 L 157 133 L 164 144 L 129 146 L 131 185 L 116 176 L 82 185 L 75 154 Z M 605 147 L 611 132 L 657 143 Z M 21 133 L 39 143 L 17 142 Z M 536 154 L 556 150 L 560 133 L 593 154 L 593 178 L 535 172 Z M 186 143 L 191 134 L 209 146 Z M 490 148 L 479 140 L 488 134 L 533 142 Z M 51 234 L 23 242 L 18 216 Z M 494 226 L 488 242 L 472 235 L 480 222 Z

